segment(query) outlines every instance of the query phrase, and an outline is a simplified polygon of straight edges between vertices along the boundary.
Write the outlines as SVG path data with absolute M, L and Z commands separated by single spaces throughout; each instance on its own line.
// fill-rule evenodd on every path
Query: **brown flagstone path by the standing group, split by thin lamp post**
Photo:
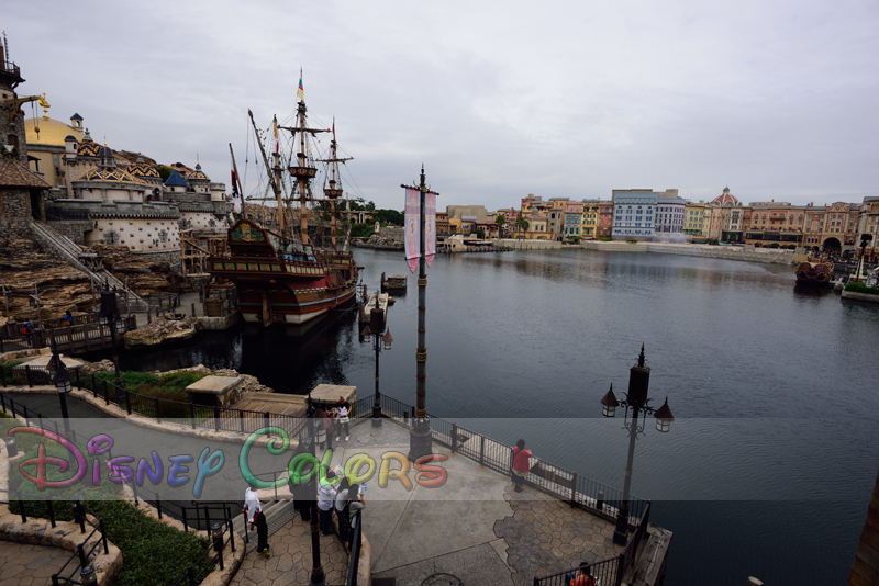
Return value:
M 253 539 L 255 534 L 251 536 Z M 230 583 L 232 586 L 287 586 L 309 583 L 311 577 L 311 525 L 296 516 L 268 538 L 271 557 L 248 553 Z M 321 536 L 321 564 L 325 584 L 344 584 L 348 575 L 348 553 L 335 536 Z M 0 583 L 2 585 L 2 583 Z

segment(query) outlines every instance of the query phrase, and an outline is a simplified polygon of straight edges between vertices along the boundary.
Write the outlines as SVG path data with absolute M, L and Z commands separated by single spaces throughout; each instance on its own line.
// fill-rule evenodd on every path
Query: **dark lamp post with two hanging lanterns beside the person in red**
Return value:
M 632 486 L 632 461 L 635 458 L 635 440 L 638 435 L 644 435 L 644 427 L 647 422 L 647 415 L 654 414 L 656 417 L 657 431 L 667 432 L 675 417 L 668 407 L 668 397 L 661 407 L 655 410 L 649 405 L 647 398 L 647 387 L 650 383 L 650 368 L 644 365 L 644 345 L 641 345 L 638 363 L 630 369 L 628 393 L 623 401 L 616 401 L 611 385 L 608 394 L 601 398 L 602 415 L 613 417 L 616 407 L 625 407 L 624 419 L 628 417 L 628 409 L 632 409 L 632 420 L 623 422 L 623 428 L 628 430 L 628 460 L 625 465 L 625 481 L 623 483 L 623 502 L 620 504 L 620 511 L 616 515 L 616 530 L 613 532 L 613 542 L 617 545 L 625 545 L 628 538 L 628 489 Z M 638 424 L 638 415 L 643 413 L 643 419 Z

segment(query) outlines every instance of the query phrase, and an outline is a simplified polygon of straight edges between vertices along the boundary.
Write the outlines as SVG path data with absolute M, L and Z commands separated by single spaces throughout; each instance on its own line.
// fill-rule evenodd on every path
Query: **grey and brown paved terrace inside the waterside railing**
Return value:
M 408 428 L 389 419 L 378 429 L 358 421 L 351 441 L 336 446 L 332 463 L 366 453 L 380 465 L 389 451 L 409 451 Z M 379 488 L 378 475 L 368 481 L 364 534 L 374 577 L 396 577 L 400 585 L 442 575 L 464 584 L 523 585 L 535 574 L 623 551 L 613 543 L 613 523 L 603 518 L 533 488 L 514 493 L 509 476 L 445 448 L 434 451 L 448 455 L 441 464 L 448 481 L 439 488 L 413 483 L 408 491 L 399 481 Z

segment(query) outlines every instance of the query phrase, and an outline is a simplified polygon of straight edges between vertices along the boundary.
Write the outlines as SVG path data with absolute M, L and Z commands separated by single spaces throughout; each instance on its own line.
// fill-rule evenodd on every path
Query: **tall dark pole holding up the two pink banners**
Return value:
M 416 383 L 416 404 L 415 417 L 412 419 L 412 429 L 409 430 L 409 459 L 418 460 L 422 455 L 433 452 L 433 435 L 431 432 L 431 421 L 427 418 L 426 390 L 427 382 L 427 347 L 424 342 L 425 319 L 424 313 L 427 296 L 427 266 L 426 266 L 426 244 L 425 228 L 426 218 L 424 213 L 425 200 L 427 196 L 427 184 L 424 179 L 424 166 L 421 166 L 421 181 L 419 187 L 401 185 L 403 189 L 416 189 L 420 192 L 419 222 L 421 230 L 419 235 L 419 346 L 415 350 L 415 380 Z M 436 192 L 431 192 L 438 195 Z

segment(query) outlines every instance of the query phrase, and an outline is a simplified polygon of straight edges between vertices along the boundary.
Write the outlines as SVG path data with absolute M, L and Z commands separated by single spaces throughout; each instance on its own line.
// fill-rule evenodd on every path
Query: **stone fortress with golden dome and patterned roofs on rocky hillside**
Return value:
M 42 219 L 76 244 L 125 245 L 176 263 L 182 232 L 229 227 L 225 184 L 211 181 L 200 164 L 186 177 L 174 169 L 163 180 L 155 162 L 140 155 L 133 162 L 116 160 L 107 144 L 91 138 L 79 114 L 66 124 L 47 109 L 24 121 L 27 159 L 51 188 Z

